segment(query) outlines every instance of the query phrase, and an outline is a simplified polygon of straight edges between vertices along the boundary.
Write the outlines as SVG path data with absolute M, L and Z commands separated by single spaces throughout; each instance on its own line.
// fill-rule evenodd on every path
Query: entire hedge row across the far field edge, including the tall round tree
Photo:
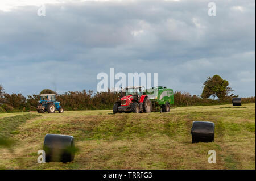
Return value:
M 231 94 L 233 91 L 228 86 L 228 81 L 219 75 L 208 77 L 204 82 L 203 92 L 200 96 L 191 95 L 188 92 L 174 92 L 174 106 L 208 106 L 217 104 L 232 104 L 232 98 L 237 95 Z M 118 99 L 117 92 L 93 92 L 68 91 L 65 94 L 44 89 L 40 94 L 55 94 L 56 100 L 60 101 L 61 106 L 66 111 L 71 110 L 111 110 L 115 101 Z M 210 99 L 210 97 L 218 99 Z M 22 94 L 7 94 L 0 85 L 0 113 L 35 111 L 38 104 L 39 95 L 28 95 L 27 98 Z M 242 103 L 255 103 L 255 96 L 242 98 Z

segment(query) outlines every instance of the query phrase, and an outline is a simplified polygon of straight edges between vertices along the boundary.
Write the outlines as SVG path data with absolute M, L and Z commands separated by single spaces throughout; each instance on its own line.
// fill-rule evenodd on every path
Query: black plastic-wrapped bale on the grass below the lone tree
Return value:
M 191 128 L 192 143 L 214 141 L 214 128 L 213 122 L 193 121 Z

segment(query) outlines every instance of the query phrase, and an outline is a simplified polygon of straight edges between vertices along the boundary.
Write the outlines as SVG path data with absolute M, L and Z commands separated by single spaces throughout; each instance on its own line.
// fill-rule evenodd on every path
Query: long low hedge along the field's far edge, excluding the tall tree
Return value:
M 0 102 L 0 113 L 23 112 L 36 110 L 39 95 L 29 95 L 25 98 L 22 94 L 2 93 Z M 118 99 L 117 93 L 86 91 L 69 91 L 65 94 L 57 95 L 64 110 L 111 110 Z M 242 103 L 255 103 L 255 96 L 242 98 Z M 187 92 L 175 91 L 174 106 L 207 106 L 217 104 L 232 104 L 232 97 L 223 100 L 203 99 L 197 95 Z

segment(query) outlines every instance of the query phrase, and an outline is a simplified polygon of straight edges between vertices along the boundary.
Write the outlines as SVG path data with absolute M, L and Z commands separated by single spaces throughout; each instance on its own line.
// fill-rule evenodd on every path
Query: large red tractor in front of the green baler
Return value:
M 121 96 L 113 106 L 113 113 L 122 112 L 151 112 L 152 105 L 147 95 L 142 92 L 142 87 L 126 87 L 122 89 Z

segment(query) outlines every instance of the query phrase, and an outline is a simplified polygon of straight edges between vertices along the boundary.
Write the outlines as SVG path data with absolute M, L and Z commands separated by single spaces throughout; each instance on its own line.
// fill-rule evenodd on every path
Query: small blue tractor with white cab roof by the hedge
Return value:
M 38 110 L 38 113 L 55 113 L 56 110 L 59 111 L 59 113 L 63 113 L 63 108 L 60 106 L 60 102 L 56 101 L 54 94 L 41 94 L 40 100 L 38 101 L 38 106 L 36 107 L 36 110 Z

